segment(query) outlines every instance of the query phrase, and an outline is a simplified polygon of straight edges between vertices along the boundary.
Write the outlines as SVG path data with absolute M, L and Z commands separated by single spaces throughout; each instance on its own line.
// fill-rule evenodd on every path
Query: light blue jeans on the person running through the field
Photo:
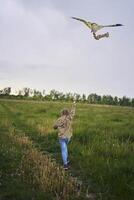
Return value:
M 69 143 L 70 139 L 69 138 L 59 138 L 59 143 L 60 143 L 60 147 L 61 147 L 61 155 L 62 155 L 62 160 L 63 160 L 63 164 L 67 165 L 68 163 L 68 143 Z

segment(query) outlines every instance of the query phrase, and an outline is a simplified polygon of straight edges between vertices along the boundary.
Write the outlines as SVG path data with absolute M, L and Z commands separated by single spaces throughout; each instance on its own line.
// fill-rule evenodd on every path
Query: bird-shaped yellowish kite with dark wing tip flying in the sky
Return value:
M 106 38 L 109 37 L 109 33 L 108 32 L 104 33 L 104 34 L 96 35 L 96 32 L 101 30 L 102 28 L 123 26 L 123 24 L 99 25 L 99 24 L 96 24 L 96 23 L 92 23 L 92 22 L 86 21 L 86 20 L 81 19 L 81 18 L 77 18 L 77 17 L 71 17 L 71 18 L 83 22 L 88 28 L 90 28 L 91 29 L 91 33 L 93 33 L 93 37 L 96 40 L 99 40 L 99 39 L 104 38 L 104 37 L 106 37 Z

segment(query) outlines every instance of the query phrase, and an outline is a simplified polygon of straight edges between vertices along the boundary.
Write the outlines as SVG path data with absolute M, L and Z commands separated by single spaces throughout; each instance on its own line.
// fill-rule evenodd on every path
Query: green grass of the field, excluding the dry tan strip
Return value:
M 2 200 L 22 199 L 24 191 L 25 199 L 32 199 L 31 187 L 22 184 L 20 177 L 13 177 L 14 184 L 11 184 L 9 177 L 19 168 L 22 149 L 20 146 L 13 148 L 8 132 L 15 129 L 17 134 L 25 133 L 39 151 L 51 154 L 61 165 L 60 147 L 53 123 L 63 107 L 70 108 L 71 104 L 0 101 Z M 90 192 L 95 192 L 100 200 L 132 200 L 134 109 L 78 104 L 73 130 L 69 145 L 71 169 L 68 173 L 82 180 L 83 185 Z M 43 195 L 39 191 L 35 199 L 43 199 Z

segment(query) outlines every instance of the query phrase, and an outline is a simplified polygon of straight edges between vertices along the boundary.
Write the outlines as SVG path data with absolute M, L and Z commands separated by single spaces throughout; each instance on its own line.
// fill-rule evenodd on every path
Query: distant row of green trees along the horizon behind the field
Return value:
M 16 94 L 12 94 L 11 87 L 6 87 L 0 90 L 0 98 L 9 99 L 30 99 L 30 100 L 42 100 L 42 101 L 67 101 L 80 103 L 90 103 L 90 104 L 104 104 L 104 105 L 120 105 L 120 106 L 131 106 L 134 107 L 134 98 L 128 98 L 123 96 L 119 98 L 117 96 L 111 95 L 97 95 L 96 93 L 91 93 L 89 95 L 78 94 L 78 93 L 63 93 L 55 89 L 51 90 L 49 94 L 46 91 L 39 91 L 36 89 L 31 89 L 28 87 L 19 90 Z

